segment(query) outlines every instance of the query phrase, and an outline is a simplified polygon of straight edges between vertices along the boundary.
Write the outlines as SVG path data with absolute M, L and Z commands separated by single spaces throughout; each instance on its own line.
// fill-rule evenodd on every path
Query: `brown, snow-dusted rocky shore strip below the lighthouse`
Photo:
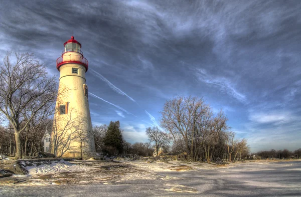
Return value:
M 0 184 L 23 185 L 49 184 L 120 184 L 123 182 L 149 182 L 151 180 L 176 180 L 175 176 L 158 172 L 198 171 L 216 168 L 216 165 L 177 160 L 114 159 L 111 161 L 88 160 L 26 160 L 21 165 L 28 175 L 14 175 L 13 180 Z

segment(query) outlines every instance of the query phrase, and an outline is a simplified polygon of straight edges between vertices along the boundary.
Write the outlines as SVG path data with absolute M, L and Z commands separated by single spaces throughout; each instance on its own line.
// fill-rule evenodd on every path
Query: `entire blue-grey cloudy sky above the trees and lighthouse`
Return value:
M 251 151 L 301 148 L 299 1 L 0 0 L 0 58 L 32 52 L 59 77 L 74 35 L 89 61 L 93 125 L 146 142 L 175 96 L 223 108 Z

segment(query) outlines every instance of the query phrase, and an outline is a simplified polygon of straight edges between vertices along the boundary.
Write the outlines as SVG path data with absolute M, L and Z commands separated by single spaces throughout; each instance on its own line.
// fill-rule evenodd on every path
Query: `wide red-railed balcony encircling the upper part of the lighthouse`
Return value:
M 63 51 L 64 52 L 64 51 Z M 57 59 L 57 69 L 60 70 L 60 66 L 64 64 L 80 64 L 86 68 L 86 72 L 88 70 L 88 60 L 84 58 L 83 53 L 70 51 L 64 52 L 62 57 Z

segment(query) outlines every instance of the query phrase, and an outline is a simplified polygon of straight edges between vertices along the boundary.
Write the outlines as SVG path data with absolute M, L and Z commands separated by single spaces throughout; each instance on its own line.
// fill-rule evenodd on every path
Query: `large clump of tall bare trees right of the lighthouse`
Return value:
M 214 115 L 202 98 L 189 96 L 167 101 L 161 114 L 161 126 L 173 136 L 174 150 L 183 149 L 184 142 L 187 159 L 205 157 L 211 162 L 215 155 L 222 157 L 221 144 L 224 144 L 224 132 L 229 129 L 222 110 Z

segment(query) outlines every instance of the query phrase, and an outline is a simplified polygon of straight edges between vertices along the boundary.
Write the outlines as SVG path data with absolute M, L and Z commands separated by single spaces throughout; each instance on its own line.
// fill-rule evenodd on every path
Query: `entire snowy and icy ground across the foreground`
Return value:
M 77 161 L 28 168 L 29 175 L 0 179 L 0 196 L 301 196 L 300 161 Z

